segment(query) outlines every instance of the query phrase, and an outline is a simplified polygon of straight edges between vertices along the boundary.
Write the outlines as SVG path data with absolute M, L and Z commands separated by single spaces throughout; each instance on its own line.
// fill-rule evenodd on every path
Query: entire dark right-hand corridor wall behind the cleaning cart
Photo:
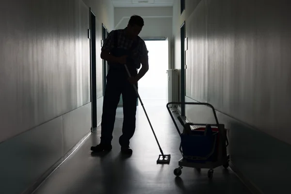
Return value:
M 182 16 L 179 0 L 173 11 L 178 69 L 186 20 L 186 99 L 217 109 L 230 129 L 232 163 L 246 179 L 266 194 L 284 193 L 291 172 L 290 2 L 201 0 L 188 8 L 190 1 Z

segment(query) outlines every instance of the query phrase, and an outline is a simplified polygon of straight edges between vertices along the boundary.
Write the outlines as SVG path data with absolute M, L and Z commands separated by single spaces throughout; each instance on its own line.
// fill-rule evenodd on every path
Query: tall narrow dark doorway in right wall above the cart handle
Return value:
M 182 24 L 181 28 L 181 103 L 185 102 L 185 96 L 186 96 L 186 91 L 185 91 L 185 84 L 186 84 L 186 78 L 185 78 L 185 37 L 186 37 L 186 30 L 185 30 L 185 21 Z M 185 117 L 185 104 L 181 104 L 181 116 Z

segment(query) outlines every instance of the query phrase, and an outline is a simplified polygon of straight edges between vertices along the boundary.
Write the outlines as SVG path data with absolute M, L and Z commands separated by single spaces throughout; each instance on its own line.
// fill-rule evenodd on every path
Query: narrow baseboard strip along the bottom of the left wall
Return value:
M 73 154 L 79 146 L 89 137 L 91 132 L 88 132 L 72 149 L 70 149 L 58 162 L 52 165 L 40 178 L 38 178 L 26 191 L 22 192 L 22 194 L 33 194 L 41 184 L 49 178 L 49 176 L 63 163 L 65 160 Z

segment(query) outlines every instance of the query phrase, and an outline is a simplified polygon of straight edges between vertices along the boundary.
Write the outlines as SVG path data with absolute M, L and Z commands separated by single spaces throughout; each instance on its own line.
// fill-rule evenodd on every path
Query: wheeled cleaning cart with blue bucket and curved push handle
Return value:
M 183 131 L 181 132 L 169 108 L 170 104 L 207 106 L 214 114 L 215 123 L 184 122 L 182 118 L 178 116 L 178 121 L 183 126 Z M 179 149 L 182 158 L 178 162 L 179 167 L 174 170 L 174 174 L 177 177 L 182 174 L 181 169 L 183 167 L 196 168 L 199 171 L 201 169 L 209 169 L 209 178 L 212 178 L 214 168 L 218 166 L 228 168 L 229 155 L 227 155 L 226 152 L 226 146 L 228 146 L 226 129 L 223 124 L 219 124 L 215 109 L 211 104 L 198 102 L 169 102 L 167 104 L 167 109 L 181 138 Z

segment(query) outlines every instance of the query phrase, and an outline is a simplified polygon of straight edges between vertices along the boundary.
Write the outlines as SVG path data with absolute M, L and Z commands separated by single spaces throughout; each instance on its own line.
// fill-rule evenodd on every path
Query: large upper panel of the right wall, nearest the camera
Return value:
M 209 102 L 291 143 L 287 1 L 209 0 Z M 253 6 L 249 6 L 253 4 Z

